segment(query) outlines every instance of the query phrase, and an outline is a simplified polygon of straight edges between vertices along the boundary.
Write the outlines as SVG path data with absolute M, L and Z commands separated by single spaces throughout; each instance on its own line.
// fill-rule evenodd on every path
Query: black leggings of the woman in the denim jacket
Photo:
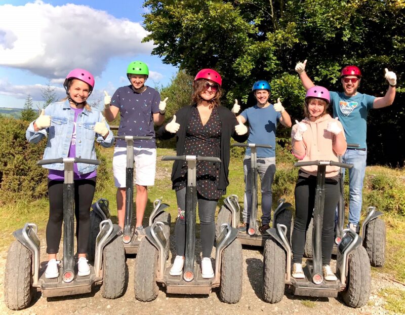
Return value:
M 74 215 L 76 217 L 77 253 L 87 252 L 96 177 L 74 181 Z M 49 220 L 47 224 L 47 253 L 56 254 L 62 236 L 63 181 L 48 180 Z

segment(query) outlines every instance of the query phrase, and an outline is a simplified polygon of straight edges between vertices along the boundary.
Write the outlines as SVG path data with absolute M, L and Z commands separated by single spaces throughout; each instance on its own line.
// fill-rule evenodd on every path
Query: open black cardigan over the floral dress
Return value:
M 163 125 L 157 131 L 157 136 L 162 140 L 168 140 L 176 135 L 176 149 L 177 155 L 184 155 L 186 129 L 188 121 L 190 120 L 192 109 L 196 105 L 189 105 L 180 108 L 176 112 L 176 122 L 180 124 L 180 128 L 176 134 L 168 132 L 166 125 Z M 219 185 L 218 189 L 226 193 L 226 187 L 229 185 L 229 157 L 230 157 L 230 139 L 231 137 L 237 142 L 245 142 L 249 137 L 249 130 L 245 135 L 238 136 L 235 132 L 235 126 L 238 124 L 235 115 L 226 107 L 218 106 L 218 113 L 222 124 L 221 133 L 221 156 L 222 161 L 219 172 Z M 172 169 L 172 182 L 180 177 L 182 161 L 174 161 Z

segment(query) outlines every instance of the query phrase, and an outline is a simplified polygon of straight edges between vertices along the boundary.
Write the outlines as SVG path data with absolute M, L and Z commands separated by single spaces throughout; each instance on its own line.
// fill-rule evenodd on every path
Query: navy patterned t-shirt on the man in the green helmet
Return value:
M 111 97 L 111 105 L 119 108 L 121 120 L 118 136 L 152 136 L 151 140 L 136 140 L 134 147 L 156 148 L 153 114 L 159 112 L 160 94 L 146 87 L 142 93 L 136 93 L 125 86 L 118 88 Z M 125 140 L 117 140 L 116 147 L 126 147 Z

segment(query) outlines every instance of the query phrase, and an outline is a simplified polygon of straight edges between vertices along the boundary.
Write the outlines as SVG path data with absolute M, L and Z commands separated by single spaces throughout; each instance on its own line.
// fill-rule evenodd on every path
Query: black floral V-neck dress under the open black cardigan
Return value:
M 188 121 L 185 141 L 185 154 L 201 156 L 221 156 L 221 121 L 217 107 L 214 107 L 208 122 L 203 126 L 197 107 Z M 219 163 L 197 162 L 196 188 L 208 200 L 218 200 L 224 191 L 218 189 Z M 176 191 L 187 186 L 187 163 L 183 162 L 181 176 L 174 183 Z

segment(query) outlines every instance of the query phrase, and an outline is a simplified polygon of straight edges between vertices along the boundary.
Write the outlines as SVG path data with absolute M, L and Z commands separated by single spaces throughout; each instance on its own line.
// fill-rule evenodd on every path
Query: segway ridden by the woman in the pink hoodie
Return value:
M 341 295 L 346 305 L 361 307 L 365 305 L 371 291 L 371 267 L 366 249 L 361 246 L 361 238 L 351 229 L 343 230 L 336 260 L 337 281 L 326 281 L 322 273 L 321 231 L 325 201 L 326 167 L 339 166 L 351 168 L 352 165 L 333 161 L 297 162 L 296 167 L 316 165 L 317 178 L 315 190 L 314 225 L 312 233 L 313 258 L 307 259 L 304 279 L 291 276 L 291 244 L 287 239 L 287 227 L 277 224 L 268 229 L 271 237 L 264 247 L 263 299 L 277 303 L 284 295 L 285 285 L 294 295 L 311 297 L 337 297 Z

